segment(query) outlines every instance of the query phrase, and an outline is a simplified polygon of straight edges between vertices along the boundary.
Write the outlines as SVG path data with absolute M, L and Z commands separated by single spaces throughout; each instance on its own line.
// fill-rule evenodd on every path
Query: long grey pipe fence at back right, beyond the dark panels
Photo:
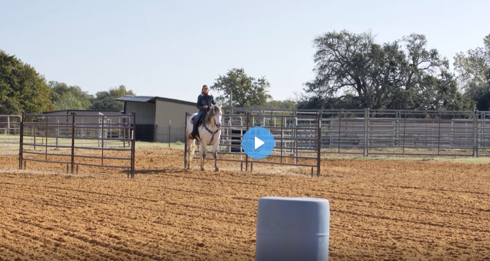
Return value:
M 490 156 L 490 112 L 410 110 L 272 110 L 233 108 L 249 113 L 262 127 L 297 118 L 297 127 L 314 127 L 321 114 L 321 153 L 369 155 Z M 227 112 L 225 112 L 227 113 Z M 252 120 L 257 123 L 257 120 Z M 315 135 L 296 131 L 299 137 Z M 314 147 L 298 141 L 295 149 Z

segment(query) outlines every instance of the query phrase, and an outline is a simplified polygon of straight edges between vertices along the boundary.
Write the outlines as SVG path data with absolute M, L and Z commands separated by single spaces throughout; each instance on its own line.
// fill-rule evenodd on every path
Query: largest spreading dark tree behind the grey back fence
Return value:
M 447 104 L 444 99 L 460 97 L 451 88 L 455 80 L 448 60 L 436 49 L 426 48 L 424 35 L 411 34 L 392 43 L 377 44 L 370 32 L 334 31 L 313 43 L 317 49 L 316 77 L 304 84 L 304 90 L 320 99 L 352 106 L 350 109 L 420 110 L 442 109 L 445 105 L 440 105 Z M 339 93 L 337 98 L 347 103 L 332 100 Z M 471 108 L 467 101 L 452 104 Z

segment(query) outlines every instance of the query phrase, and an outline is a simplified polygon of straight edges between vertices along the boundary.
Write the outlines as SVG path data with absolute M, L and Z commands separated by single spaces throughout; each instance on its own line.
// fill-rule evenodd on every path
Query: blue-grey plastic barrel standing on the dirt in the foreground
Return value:
M 255 261 L 328 261 L 329 236 L 328 200 L 259 199 Z

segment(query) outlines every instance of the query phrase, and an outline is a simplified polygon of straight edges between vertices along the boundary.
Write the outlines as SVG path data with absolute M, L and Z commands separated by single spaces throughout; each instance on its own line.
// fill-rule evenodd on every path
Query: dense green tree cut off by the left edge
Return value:
M 44 76 L 0 49 L 0 114 L 42 113 L 54 109 Z

